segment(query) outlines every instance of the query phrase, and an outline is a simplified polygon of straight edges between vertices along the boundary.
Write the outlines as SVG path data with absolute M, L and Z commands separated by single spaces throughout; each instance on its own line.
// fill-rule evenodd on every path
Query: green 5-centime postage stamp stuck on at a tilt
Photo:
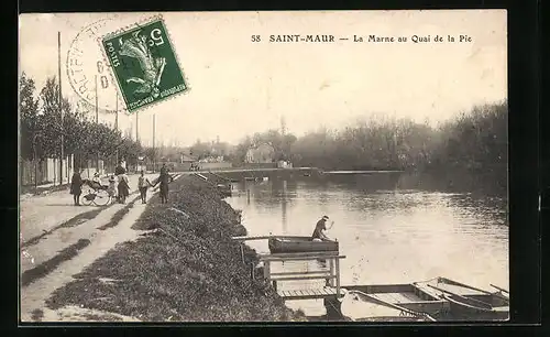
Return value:
M 107 35 L 102 47 L 129 112 L 187 90 L 162 18 Z

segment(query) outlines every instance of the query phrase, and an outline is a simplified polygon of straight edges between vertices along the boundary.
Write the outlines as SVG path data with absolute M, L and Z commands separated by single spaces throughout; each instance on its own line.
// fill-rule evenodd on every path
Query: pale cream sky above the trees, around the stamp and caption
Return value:
M 144 144 L 152 144 L 153 116 L 157 144 L 190 145 L 217 137 L 238 143 L 279 128 L 282 117 L 288 132 L 301 135 L 381 115 L 443 121 L 507 97 L 505 10 L 22 14 L 20 73 L 34 78 L 38 89 L 57 76 L 61 32 L 63 95 L 76 106 L 81 98 L 70 85 L 67 55 L 75 46 L 81 50 L 78 62 L 90 77 L 103 59 L 96 40 L 80 32 L 102 22 L 100 35 L 153 14 L 164 18 L 190 89 L 139 110 Z M 272 34 L 332 34 L 336 42 L 270 43 Z M 353 42 L 353 35 L 371 34 L 408 41 Z M 472 41 L 458 42 L 461 34 Z M 252 35 L 262 42 L 252 42 Z M 430 35 L 431 42 L 413 43 L 413 35 Z M 444 41 L 433 42 L 436 35 Z M 447 35 L 455 42 L 447 42 Z M 112 80 L 109 68 L 100 75 Z M 114 106 L 113 85 L 99 91 L 99 106 Z M 99 119 L 113 123 L 114 113 L 101 110 Z M 135 134 L 135 119 L 119 113 L 120 129 Z

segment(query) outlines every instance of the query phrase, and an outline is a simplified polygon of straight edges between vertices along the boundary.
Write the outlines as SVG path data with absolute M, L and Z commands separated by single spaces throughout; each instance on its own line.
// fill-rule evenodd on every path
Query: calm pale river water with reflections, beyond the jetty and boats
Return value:
M 451 193 L 426 176 L 387 173 L 274 177 L 233 188 L 226 200 L 243 210 L 249 236 L 309 236 L 328 215 L 334 225 L 327 233 L 345 256 L 343 285 L 446 276 L 482 289 L 491 290 L 490 283 L 508 289 L 506 198 Z M 268 252 L 265 240 L 249 242 Z M 308 315 L 324 311 L 322 301 L 288 303 Z

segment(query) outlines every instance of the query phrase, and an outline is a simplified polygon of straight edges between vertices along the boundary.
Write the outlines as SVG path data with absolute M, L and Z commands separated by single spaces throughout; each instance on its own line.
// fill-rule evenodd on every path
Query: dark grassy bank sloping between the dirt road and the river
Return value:
M 155 231 L 121 243 L 77 280 L 54 292 L 51 308 L 78 305 L 145 322 L 306 320 L 290 312 L 251 267 L 255 252 L 239 244 L 239 213 L 194 176 L 170 184 L 166 205 L 154 196 L 135 229 Z M 106 281 L 107 280 L 107 281 Z

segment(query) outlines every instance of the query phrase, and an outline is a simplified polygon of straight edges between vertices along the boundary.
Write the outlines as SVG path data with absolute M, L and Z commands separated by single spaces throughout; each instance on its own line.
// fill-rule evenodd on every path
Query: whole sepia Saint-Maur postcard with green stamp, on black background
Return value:
M 20 320 L 507 320 L 506 18 L 21 14 Z

